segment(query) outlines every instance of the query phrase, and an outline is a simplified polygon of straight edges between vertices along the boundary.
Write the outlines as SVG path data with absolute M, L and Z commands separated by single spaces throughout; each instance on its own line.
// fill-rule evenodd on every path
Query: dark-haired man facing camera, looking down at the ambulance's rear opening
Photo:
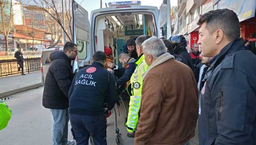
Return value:
M 126 42 L 126 45 L 123 46 L 123 53 L 126 53 L 129 55 L 129 57 L 132 57 L 134 59 L 138 58 L 137 52 L 136 52 L 136 43 L 134 39 L 128 39 Z

